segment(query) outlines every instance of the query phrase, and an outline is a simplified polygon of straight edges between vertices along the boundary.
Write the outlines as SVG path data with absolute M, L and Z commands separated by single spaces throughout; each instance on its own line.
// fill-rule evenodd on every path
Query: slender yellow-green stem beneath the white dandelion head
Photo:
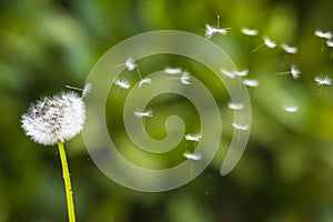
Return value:
M 70 174 L 69 174 L 69 170 L 68 170 L 68 163 L 67 163 L 63 143 L 61 141 L 58 141 L 58 148 L 59 148 L 59 153 L 60 153 L 60 160 L 61 160 L 61 165 L 62 165 L 62 176 L 63 176 L 64 189 L 65 189 L 68 219 L 69 219 L 69 222 L 75 222 L 71 180 L 70 180 Z

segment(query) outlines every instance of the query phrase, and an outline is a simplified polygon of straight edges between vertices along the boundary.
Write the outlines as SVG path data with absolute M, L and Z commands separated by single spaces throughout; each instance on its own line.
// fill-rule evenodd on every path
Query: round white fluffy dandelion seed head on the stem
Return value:
M 22 128 L 34 142 L 53 145 L 75 137 L 85 121 L 85 105 L 74 92 L 43 98 L 21 118 Z

